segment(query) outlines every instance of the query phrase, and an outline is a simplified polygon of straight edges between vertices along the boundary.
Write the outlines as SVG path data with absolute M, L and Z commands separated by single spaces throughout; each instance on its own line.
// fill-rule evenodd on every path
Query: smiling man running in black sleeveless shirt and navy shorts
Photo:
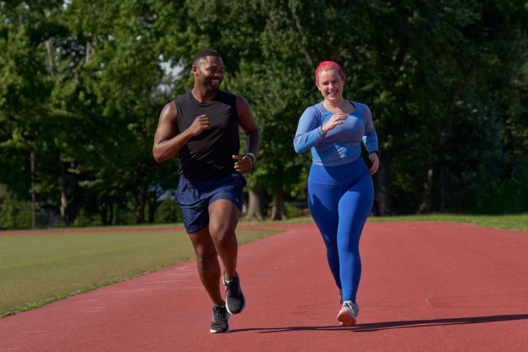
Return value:
M 224 65 L 212 50 L 196 54 L 194 88 L 161 111 L 153 155 L 158 163 L 179 156 L 177 200 L 185 229 L 196 253 L 198 272 L 213 302 L 210 332 L 229 332 L 230 314 L 246 306 L 237 274 L 237 227 L 246 180 L 255 162 L 260 132 L 249 103 L 222 92 Z M 246 155 L 240 156 L 239 126 L 246 134 Z M 220 294 L 220 263 L 226 299 Z

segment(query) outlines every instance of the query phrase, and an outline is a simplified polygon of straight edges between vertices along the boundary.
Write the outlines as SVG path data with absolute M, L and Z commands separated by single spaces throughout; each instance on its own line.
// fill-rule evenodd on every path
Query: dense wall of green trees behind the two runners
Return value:
M 527 31 L 523 1 L 0 2 L 1 226 L 28 226 L 15 214 L 31 192 L 43 226 L 180 221 L 163 199 L 177 162 L 153 161 L 153 136 L 206 48 L 260 128 L 250 188 L 306 201 L 310 155 L 293 137 L 322 99 L 315 66 L 333 60 L 344 96 L 371 108 L 394 213 L 425 198 L 433 211 L 526 211 Z

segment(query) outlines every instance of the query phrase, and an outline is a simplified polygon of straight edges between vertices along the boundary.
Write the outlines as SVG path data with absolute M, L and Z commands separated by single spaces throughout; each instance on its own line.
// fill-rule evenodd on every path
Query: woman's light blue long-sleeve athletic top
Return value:
M 335 166 L 350 163 L 360 157 L 361 141 L 369 153 L 378 150 L 377 134 L 372 124 L 368 106 L 350 101 L 356 107 L 342 125 L 337 125 L 327 134 L 322 125 L 334 115 L 322 102 L 310 106 L 301 115 L 294 138 L 295 151 L 303 153 L 312 149 L 315 165 Z

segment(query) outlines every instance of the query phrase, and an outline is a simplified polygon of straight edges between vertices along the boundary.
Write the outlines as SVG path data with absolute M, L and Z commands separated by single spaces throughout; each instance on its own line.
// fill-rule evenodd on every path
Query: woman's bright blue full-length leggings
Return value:
M 312 164 L 308 208 L 325 241 L 328 264 L 344 301 L 356 301 L 359 238 L 373 201 L 372 177 L 362 158 L 330 167 Z

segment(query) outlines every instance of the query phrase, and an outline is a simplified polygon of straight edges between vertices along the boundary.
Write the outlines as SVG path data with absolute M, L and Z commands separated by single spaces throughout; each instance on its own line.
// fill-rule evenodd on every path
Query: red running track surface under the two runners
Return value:
M 358 325 L 315 225 L 239 248 L 246 310 L 210 334 L 191 260 L 0 320 L 0 351 L 528 351 L 528 233 L 368 223 Z

